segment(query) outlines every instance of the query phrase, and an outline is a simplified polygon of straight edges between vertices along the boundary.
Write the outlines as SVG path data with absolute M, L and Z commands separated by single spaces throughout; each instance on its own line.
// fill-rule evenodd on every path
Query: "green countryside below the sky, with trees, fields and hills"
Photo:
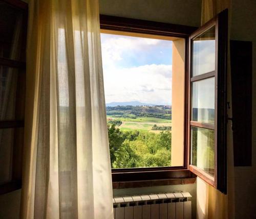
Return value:
M 107 106 L 112 168 L 171 165 L 170 106 Z

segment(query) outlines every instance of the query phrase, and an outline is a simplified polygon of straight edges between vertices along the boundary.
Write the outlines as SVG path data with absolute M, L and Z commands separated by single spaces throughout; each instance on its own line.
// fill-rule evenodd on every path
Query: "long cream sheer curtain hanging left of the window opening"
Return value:
M 98 10 L 29 4 L 21 218 L 113 218 Z

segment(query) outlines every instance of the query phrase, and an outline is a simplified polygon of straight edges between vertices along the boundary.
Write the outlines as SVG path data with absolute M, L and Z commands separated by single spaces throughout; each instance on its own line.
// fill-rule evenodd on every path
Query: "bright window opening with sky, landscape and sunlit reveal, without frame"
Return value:
M 177 61 L 184 59 L 185 41 L 122 34 L 101 33 L 112 168 L 182 166 L 184 144 L 177 138 L 184 138 L 184 101 L 177 99 L 184 96 L 184 62 Z M 180 146 L 175 153 L 172 141 Z

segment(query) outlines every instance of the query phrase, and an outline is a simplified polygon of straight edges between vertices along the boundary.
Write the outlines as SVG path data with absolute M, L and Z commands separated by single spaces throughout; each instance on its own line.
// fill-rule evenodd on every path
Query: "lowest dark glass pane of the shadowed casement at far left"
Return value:
M 13 171 L 15 173 L 17 168 L 22 166 L 20 150 L 23 144 L 23 135 L 23 128 L 0 129 L 0 185 L 11 181 Z M 13 154 L 19 154 L 15 157 L 16 167 L 12 165 Z

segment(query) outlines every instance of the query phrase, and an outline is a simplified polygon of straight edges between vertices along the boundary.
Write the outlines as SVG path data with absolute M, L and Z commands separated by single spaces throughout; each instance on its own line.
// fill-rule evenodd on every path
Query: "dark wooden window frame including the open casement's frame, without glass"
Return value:
M 143 187 L 151 185 L 170 185 L 195 182 L 199 176 L 223 193 L 227 189 L 226 166 L 226 74 L 227 74 L 227 9 L 208 21 L 202 28 L 173 25 L 154 21 L 100 15 L 100 28 L 108 31 L 131 32 L 156 36 L 179 37 L 185 39 L 185 83 L 184 83 L 184 162 L 183 166 L 119 168 L 112 169 L 113 188 Z M 190 77 L 190 42 L 202 29 L 216 26 L 216 70 L 206 74 Z M 192 35 L 191 35 L 192 34 Z M 220 43 L 218 43 L 218 41 Z M 218 55 L 219 54 L 219 55 Z M 215 125 L 190 121 L 190 83 L 216 77 Z M 217 89 L 218 84 L 218 89 Z M 217 98 L 218 97 L 218 98 Z M 190 165 L 190 126 L 207 128 L 215 131 L 215 177 Z M 216 126 L 216 127 L 214 127 Z M 191 180 L 193 179 L 193 180 Z

